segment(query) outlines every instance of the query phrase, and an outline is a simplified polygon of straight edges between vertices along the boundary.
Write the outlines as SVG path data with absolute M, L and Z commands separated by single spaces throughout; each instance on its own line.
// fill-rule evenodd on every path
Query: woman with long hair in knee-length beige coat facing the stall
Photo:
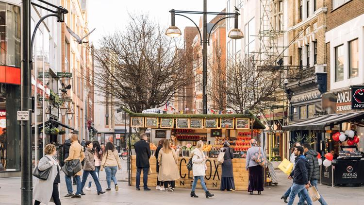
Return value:
M 164 182 L 165 191 L 174 191 L 175 181 L 180 178 L 178 173 L 178 157 L 176 152 L 170 147 L 169 141 L 163 142 L 163 148 L 158 154 L 159 173 L 158 181 Z M 171 188 L 168 188 L 171 184 Z

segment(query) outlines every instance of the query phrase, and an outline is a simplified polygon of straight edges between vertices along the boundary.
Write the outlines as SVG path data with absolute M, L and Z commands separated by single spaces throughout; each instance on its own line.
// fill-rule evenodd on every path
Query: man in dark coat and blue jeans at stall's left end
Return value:
M 140 135 L 140 140 L 135 142 L 135 153 L 136 153 L 136 183 L 135 187 L 136 190 L 140 190 L 140 174 L 143 170 L 143 184 L 144 190 L 149 191 L 148 188 L 148 171 L 149 171 L 149 158 L 150 158 L 150 147 L 149 143 L 147 142 L 147 135 L 142 133 Z

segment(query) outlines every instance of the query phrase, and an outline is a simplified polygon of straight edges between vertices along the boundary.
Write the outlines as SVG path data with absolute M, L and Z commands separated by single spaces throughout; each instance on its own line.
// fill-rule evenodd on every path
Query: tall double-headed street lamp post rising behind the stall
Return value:
M 170 37 L 178 37 L 180 36 L 181 30 L 175 25 L 175 16 L 182 16 L 186 17 L 189 20 L 191 20 L 196 28 L 199 31 L 200 36 L 200 45 L 202 45 L 202 114 L 207 114 L 207 44 L 210 44 L 210 35 L 211 31 L 214 29 L 214 27 L 217 25 L 218 22 L 225 20 L 226 18 L 235 18 L 235 24 L 234 29 L 232 29 L 228 36 L 232 39 L 241 39 L 244 37 L 243 32 L 240 31 L 238 28 L 238 16 L 240 15 L 237 11 L 235 13 L 225 13 L 225 12 L 207 12 L 207 0 L 203 0 L 203 12 L 199 11 L 179 11 L 179 10 L 170 10 L 171 13 L 171 26 L 165 31 L 165 34 Z M 199 30 L 199 27 L 197 24 L 189 17 L 184 16 L 182 14 L 202 14 L 203 15 L 203 29 L 202 29 L 202 35 Z M 213 27 L 211 28 L 211 31 L 209 32 L 209 37 L 207 38 L 207 15 L 218 15 L 218 16 L 226 16 L 218 20 Z

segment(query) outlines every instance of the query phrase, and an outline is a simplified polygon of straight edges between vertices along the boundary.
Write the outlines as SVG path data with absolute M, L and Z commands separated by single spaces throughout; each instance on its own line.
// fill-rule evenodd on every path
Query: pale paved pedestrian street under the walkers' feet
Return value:
M 125 161 L 123 161 L 123 170 L 118 171 L 116 178 L 119 181 L 119 191 L 114 190 L 112 183 L 112 191 L 105 194 L 97 195 L 96 187 L 93 183 L 91 191 L 83 189 L 86 195 L 81 199 L 65 198 L 66 184 L 64 176 L 61 176 L 61 202 L 63 205 L 284 205 L 280 199 L 282 193 L 290 186 L 286 176 L 279 170 L 277 171 L 279 185 L 276 187 L 265 187 L 262 195 L 249 195 L 247 191 L 219 191 L 211 190 L 214 197 L 206 199 L 202 189 L 197 189 L 196 194 L 199 198 L 191 198 L 189 196 L 190 189 L 177 188 L 174 192 L 164 192 L 156 190 L 155 187 L 149 187 L 151 191 L 136 191 L 135 187 L 129 187 L 127 182 L 127 172 Z M 100 182 L 103 190 L 107 188 L 106 174 L 100 172 Z M 0 205 L 20 205 L 20 177 L 2 178 L 0 179 Z M 73 186 L 76 190 L 76 186 Z M 323 195 L 329 205 L 363 205 L 364 187 L 347 188 L 319 185 L 319 192 Z M 298 198 L 296 197 L 295 204 Z M 53 204 L 53 203 L 50 203 Z M 314 202 L 319 205 L 319 202 Z

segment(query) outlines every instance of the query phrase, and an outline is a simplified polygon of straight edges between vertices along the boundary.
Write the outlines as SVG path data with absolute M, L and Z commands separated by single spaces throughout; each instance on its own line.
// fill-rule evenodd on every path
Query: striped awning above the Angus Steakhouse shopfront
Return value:
M 340 124 L 343 122 L 361 120 L 363 117 L 364 112 L 324 115 L 314 119 L 283 126 L 283 131 L 325 130 L 325 127 L 329 126 L 331 123 Z

